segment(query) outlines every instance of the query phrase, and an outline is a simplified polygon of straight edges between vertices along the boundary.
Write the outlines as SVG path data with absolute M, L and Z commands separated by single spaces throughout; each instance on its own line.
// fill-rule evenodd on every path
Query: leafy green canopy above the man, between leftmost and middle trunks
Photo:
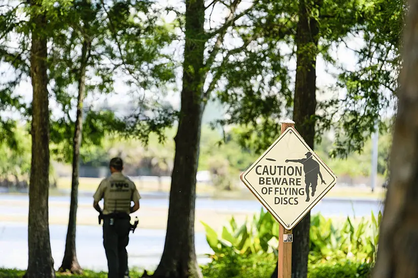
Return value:
M 75 119 L 70 112 L 78 94 L 71 89 L 80 86 L 82 67 L 87 71 L 87 95 L 115 92 L 113 86 L 118 80 L 129 88 L 132 102 L 138 103 L 135 111 L 119 117 L 110 109 L 94 111 L 83 107 L 87 115 L 82 146 L 101 146 L 104 134 L 115 133 L 139 137 L 146 143 L 151 133 L 162 136 L 161 130 L 171 125 L 174 113 L 169 107 L 138 95 L 140 90 L 162 90 L 174 78 L 173 65 L 161 52 L 172 36 L 168 26 L 158 22 L 159 16 L 159 11 L 147 1 L 73 2 L 62 20 L 63 26 L 52 36 L 54 46 L 50 55 L 55 97 L 64 112 L 51 125 L 52 154 L 58 160 L 72 159 Z M 79 22 L 83 24 L 80 26 Z M 86 45 L 88 53 L 83 54 L 80 49 Z

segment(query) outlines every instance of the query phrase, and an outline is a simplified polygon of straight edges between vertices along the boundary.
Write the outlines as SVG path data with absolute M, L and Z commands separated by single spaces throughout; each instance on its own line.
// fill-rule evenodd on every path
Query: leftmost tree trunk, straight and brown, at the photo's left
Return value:
M 31 3 L 32 6 L 37 3 Z M 32 15 L 30 76 L 32 100 L 32 158 L 29 180 L 27 278 L 55 277 L 49 235 L 49 99 L 47 77 L 47 18 L 35 7 Z

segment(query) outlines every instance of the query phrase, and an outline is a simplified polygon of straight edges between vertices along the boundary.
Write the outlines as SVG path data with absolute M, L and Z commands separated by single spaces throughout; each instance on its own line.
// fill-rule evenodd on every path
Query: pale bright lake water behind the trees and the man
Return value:
M 0 194 L 0 211 L 6 215 L 27 215 L 27 207 L 13 209 L 1 205 L 5 200 L 27 201 L 24 195 Z M 69 204 L 67 196 L 51 196 L 51 203 Z M 81 196 L 79 204 L 91 204 L 92 198 Z M 143 195 L 141 207 L 168 208 L 168 198 L 163 195 Z M 369 216 L 371 211 L 377 213 L 382 210 L 382 204 L 376 200 L 348 200 L 324 198 L 314 207 L 312 213 L 320 212 L 324 216 Z M 258 213 L 261 205 L 256 200 L 214 200 L 198 198 L 196 209 L 213 209 L 234 212 Z M 59 215 L 61 208 L 51 211 Z M 63 217 L 67 217 L 65 214 Z M 51 248 L 55 260 L 55 268 L 60 266 L 65 246 L 65 225 L 50 225 Z M 146 267 L 153 269 L 160 261 L 164 248 L 165 230 L 137 229 L 131 234 L 128 246 L 130 267 Z M 100 226 L 77 227 L 77 255 L 82 267 L 94 270 L 106 270 L 106 257 L 102 245 L 102 229 Z M 205 254 L 211 253 L 204 233 L 196 234 L 196 252 L 199 263 L 208 261 Z M 21 268 L 27 266 L 27 225 L 19 222 L 0 222 L 0 267 Z

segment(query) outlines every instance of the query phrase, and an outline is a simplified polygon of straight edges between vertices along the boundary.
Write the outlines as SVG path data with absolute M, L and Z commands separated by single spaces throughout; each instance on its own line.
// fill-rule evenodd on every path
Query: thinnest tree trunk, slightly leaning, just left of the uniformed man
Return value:
M 91 43 L 86 39 L 83 42 L 79 76 L 79 95 L 77 98 L 77 117 L 75 118 L 74 137 L 72 142 L 72 175 L 71 175 L 71 201 L 68 217 L 67 238 L 65 240 L 64 258 L 59 271 L 70 271 L 81 274 L 83 270 L 77 260 L 75 252 L 75 234 L 77 226 L 77 205 L 79 195 L 79 169 L 80 146 L 83 131 L 83 102 L 86 94 L 86 68 L 89 59 Z

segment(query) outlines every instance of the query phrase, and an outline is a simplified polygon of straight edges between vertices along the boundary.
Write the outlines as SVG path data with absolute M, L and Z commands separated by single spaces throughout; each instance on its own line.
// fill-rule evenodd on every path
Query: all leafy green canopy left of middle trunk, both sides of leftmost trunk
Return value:
M 72 159 L 74 103 L 86 67 L 87 95 L 115 92 L 115 81 L 123 83 L 137 103 L 137 109 L 125 117 L 110 110 L 93 111 L 84 107 L 82 145 L 102 144 L 104 134 L 120 132 L 147 142 L 150 133 L 161 135 L 176 113 L 159 105 L 159 98 L 144 98 L 143 90 L 158 90 L 163 95 L 166 83 L 174 79 L 173 63 L 161 49 L 173 39 L 172 30 L 160 20 L 161 11 L 148 1 L 60 0 L 42 1 L 40 5 L 7 1 L 0 8 L 0 62 L 8 78 L 0 82 L 0 110 L 20 112 L 30 120 L 31 108 L 13 95 L 15 88 L 29 76 L 30 20 L 20 20 L 21 13 L 45 13 L 48 19 L 48 50 L 51 97 L 62 116 L 51 119 L 51 154 L 62 162 Z M 13 35 L 15 34 L 15 35 Z M 17 34 L 17 35 L 16 35 Z M 13 44 L 13 45 L 12 45 Z M 16 45 L 17 47 L 16 47 Z M 87 48 L 85 48 L 87 47 Z M 83 52 L 83 51 L 86 52 Z M 13 72 L 10 74 L 10 72 Z M 122 81 L 122 82 L 121 82 Z M 82 105 L 82 104 L 81 104 Z M 13 126 L 0 115 L 0 141 L 14 146 Z

